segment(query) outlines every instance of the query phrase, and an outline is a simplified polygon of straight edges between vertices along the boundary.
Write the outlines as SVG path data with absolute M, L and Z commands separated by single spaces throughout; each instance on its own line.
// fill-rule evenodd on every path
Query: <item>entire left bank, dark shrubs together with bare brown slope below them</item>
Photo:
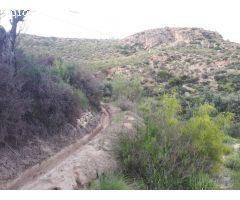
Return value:
M 78 66 L 21 52 L 16 61 L 16 68 L 0 64 L 1 181 L 86 134 L 77 119 L 87 111 L 97 119 L 102 96 L 101 82 Z

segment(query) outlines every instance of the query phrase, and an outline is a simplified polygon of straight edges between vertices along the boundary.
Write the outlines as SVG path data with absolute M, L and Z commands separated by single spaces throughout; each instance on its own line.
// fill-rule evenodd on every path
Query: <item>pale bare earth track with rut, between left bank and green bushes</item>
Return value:
M 112 116 L 119 113 L 115 107 L 103 108 L 100 123 L 90 134 L 26 170 L 14 181 L 2 185 L 2 189 L 85 189 L 98 175 L 115 171 L 118 168 L 115 142 L 119 134 L 134 132 L 137 121 L 133 113 L 125 112 L 123 121 L 117 118 L 113 123 Z

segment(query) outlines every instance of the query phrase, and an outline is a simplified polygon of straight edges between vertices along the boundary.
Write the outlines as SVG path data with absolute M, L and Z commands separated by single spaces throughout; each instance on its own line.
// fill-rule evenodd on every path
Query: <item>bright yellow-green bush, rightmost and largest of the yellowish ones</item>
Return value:
M 200 106 L 186 122 L 184 133 L 191 138 L 201 159 L 209 162 L 210 170 L 219 171 L 223 155 L 228 151 L 223 143 L 224 131 L 230 127 L 233 115 L 221 113 L 211 117 L 213 112 L 216 112 L 216 109 L 211 105 Z

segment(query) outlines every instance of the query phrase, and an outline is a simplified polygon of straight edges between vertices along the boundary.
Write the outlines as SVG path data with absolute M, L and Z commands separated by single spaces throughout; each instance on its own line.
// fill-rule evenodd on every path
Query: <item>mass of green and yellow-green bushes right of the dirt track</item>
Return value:
M 116 148 L 128 183 L 142 189 L 220 188 L 217 177 L 224 168 L 223 157 L 232 152 L 226 141 L 234 127 L 233 113 L 200 103 L 186 118 L 176 92 L 144 96 L 141 84 L 124 76 L 113 78 L 111 98 L 123 110 L 138 112 L 145 122 L 136 137 L 121 137 Z M 236 160 L 234 156 L 225 165 L 237 167 Z M 238 174 L 233 174 L 236 180 Z M 117 189 L 115 183 L 111 187 L 116 178 L 104 175 L 95 181 L 99 188 Z

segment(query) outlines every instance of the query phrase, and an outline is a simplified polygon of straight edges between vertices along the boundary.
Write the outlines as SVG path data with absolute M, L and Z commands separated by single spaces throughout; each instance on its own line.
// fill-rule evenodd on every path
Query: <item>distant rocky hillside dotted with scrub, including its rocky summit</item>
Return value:
M 181 97 L 209 98 L 210 94 L 214 97 L 209 101 L 217 95 L 229 102 L 240 90 L 240 45 L 200 28 L 153 29 L 122 40 L 22 35 L 18 48 L 27 55 L 77 63 L 106 80 L 115 75 L 137 77 L 148 95 L 177 90 Z

